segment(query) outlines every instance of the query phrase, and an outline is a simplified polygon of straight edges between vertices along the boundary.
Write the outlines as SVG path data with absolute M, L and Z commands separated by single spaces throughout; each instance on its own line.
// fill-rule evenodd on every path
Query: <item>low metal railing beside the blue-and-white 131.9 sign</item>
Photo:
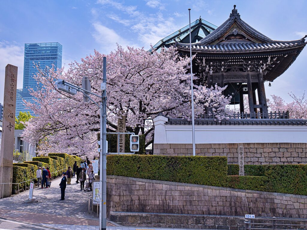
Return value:
M 302 219 L 245 218 L 244 224 L 245 230 L 307 229 L 307 220 Z

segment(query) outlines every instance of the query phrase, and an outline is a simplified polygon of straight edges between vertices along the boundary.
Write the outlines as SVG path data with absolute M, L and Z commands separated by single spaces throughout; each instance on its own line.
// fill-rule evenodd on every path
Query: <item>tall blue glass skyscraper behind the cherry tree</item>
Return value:
M 23 67 L 23 87 L 17 89 L 16 95 L 16 116 L 19 112 L 29 111 L 32 115 L 33 111 L 26 109 L 22 100 L 34 102 L 33 97 L 29 94 L 29 88 L 37 89 L 36 80 L 33 75 L 37 70 L 33 67 L 34 63 L 40 63 L 41 68 L 46 66 L 51 67 L 54 64 L 55 68 L 62 67 L 62 45 L 58 42 L 50 43 L 29 43 L 25 44 L 25 57 Z

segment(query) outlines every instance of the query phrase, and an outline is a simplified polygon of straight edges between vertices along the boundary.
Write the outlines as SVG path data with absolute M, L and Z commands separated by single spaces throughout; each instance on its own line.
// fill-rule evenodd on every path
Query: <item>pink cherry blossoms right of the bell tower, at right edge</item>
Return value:
M 296 96 L 292 92 L 289 93 L 293 99 L 292 102 L 286 103 L 284 99 L 279 96 L 271 95 L 272 101 L 267 100 L 267 104 L 271 111 L 289 111 L 290 118 L 293 119 L 307 119 L 307 99 L 305 98 L 305 91 L 302 96 Z

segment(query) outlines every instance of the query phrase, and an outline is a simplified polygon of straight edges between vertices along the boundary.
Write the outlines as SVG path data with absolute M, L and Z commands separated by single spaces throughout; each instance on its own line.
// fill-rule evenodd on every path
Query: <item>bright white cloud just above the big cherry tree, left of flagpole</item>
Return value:
M 100 22 L 93 23 L 95 32 L 92 34 L 96 42 L 101 44 L 100 52 L 109 53 L 117 48 L 116 43 L 122 47 L 135 46 L 131 44 L 128 40 L 122 38 L 113 29 L 110 29 Z

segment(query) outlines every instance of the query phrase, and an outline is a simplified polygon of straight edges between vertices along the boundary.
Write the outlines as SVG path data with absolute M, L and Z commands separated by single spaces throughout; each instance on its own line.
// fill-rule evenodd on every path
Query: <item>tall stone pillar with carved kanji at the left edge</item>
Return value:
M 15 109 L 17 88 L 17 66 L 8 64 L 5 67 L 4 106 L 2 123 L 2 140 L 0 152 L 0 183 L 12 183 Z M 12 184 L 2 185 L 3 197 L 12 193 Z M 2 197 L 2 186 L 0 196 Z

